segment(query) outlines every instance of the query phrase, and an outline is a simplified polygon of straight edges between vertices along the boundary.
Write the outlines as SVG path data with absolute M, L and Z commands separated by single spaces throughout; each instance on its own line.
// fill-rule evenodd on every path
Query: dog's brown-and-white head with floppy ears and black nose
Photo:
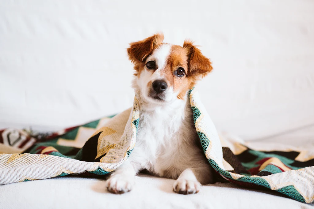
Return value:
M 133 42 L 127 49 L 134 64 L 136 93 L 154 103 L 184 99 L 195 82 L 211 70 L 211 62 L 189 40 L 183 47 L 163 43 L 163 34 Z

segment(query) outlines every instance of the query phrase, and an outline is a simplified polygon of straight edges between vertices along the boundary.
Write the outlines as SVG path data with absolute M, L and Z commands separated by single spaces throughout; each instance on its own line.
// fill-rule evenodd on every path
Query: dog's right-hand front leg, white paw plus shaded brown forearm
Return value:
M 212 183 L 212 172 L 208 167 L 188 168 L 184 170 L 173 184 L 173 191 L 179 194 L 195 194 L 202 184 Z

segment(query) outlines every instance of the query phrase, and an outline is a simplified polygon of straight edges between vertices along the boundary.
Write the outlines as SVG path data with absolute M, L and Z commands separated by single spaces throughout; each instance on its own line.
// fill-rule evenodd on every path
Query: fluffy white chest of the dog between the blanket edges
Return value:
M 167 177 L 175 177 L 182 172 L 182 164 L 189 160 L 182 157 L 182 152 L 195 149 L 189 143 L 196 131 L 191 118 L 184 119 L 186 114 L 192 112 L 141 112 L 133 157 L 140 159 L 145 169 Z

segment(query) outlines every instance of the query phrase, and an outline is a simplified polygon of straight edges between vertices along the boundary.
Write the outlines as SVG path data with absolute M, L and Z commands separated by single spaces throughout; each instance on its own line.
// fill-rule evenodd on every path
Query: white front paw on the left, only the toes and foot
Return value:
M 124 175 L 112 175 L 106 181 L 108 191 L 115 194 L 123 194 L 131 191 L 134 184 L 133 178 Z

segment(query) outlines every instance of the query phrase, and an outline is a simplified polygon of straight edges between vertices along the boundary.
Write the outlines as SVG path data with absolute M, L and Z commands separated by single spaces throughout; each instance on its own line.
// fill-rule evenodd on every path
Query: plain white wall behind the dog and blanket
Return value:
M 314 1 L 0 0 L 0 128 L 64 128 L 130 107 L 128 43 L 201 45 L 216 127 L 314 141 Z M 284 140 L 284 138 L 283 138 Z

